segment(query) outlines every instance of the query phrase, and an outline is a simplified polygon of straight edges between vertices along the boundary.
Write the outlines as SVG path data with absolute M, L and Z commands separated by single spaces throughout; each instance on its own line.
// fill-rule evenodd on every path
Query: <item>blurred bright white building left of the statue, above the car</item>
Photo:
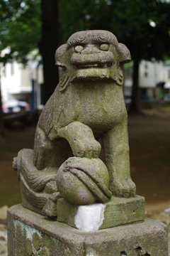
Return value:
M 2 102 L 16 99 L 30 104 L 32 112 L 41 107 L 42 65 L 30 61 L 26 67 L 13 61 L 1 64 Z

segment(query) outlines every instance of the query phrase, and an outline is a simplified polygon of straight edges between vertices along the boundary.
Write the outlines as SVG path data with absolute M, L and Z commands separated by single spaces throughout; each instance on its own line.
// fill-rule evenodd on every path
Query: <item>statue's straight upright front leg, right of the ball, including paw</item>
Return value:
M 113 196 L 135 196 L 135 183 L 130 177 L 127 122 L 117 124 L 103 136 L 103 146 Z

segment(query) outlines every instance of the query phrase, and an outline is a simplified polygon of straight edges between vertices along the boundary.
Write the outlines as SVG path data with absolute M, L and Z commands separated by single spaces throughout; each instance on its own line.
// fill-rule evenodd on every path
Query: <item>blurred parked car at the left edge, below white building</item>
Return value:
M 7 100 L 2 105 L 2 111 L 4 113 L 30 111 L 30 105 L 28 102 L 20 100 Z

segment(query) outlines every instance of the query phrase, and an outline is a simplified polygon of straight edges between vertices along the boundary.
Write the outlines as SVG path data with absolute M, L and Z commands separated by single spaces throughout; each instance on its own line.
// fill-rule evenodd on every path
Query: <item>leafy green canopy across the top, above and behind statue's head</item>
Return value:
M 170 55 L 169 0 L 60 0 L 62 41 L 76 31 L 112 31 L 130 49 L 132 58 Z M 40 41 L 40 0 L 0 0 L 0 52 L 10 46 L 11 58 L 26 63 L 27 54 Z

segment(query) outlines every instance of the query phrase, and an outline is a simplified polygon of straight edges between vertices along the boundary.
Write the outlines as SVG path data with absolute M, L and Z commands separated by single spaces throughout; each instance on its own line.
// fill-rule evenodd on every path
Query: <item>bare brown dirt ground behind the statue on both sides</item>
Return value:
M 145 196 L 147 215 L 170 208 L 170 111 L 130 115 L 130 165 L 137 194 Z M 21 203 L 12 159 L 23 148 L 33 149 L 35 127 L 6 130 L 0 138 L 0 207 Z

